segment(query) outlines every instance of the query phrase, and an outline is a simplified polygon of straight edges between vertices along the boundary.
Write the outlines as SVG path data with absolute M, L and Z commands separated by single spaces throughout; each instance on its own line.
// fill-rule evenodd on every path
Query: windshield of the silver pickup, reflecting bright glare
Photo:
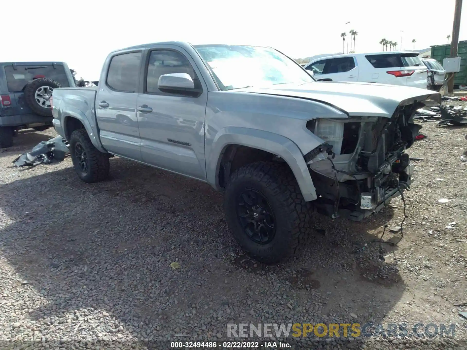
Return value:
M 212 70 L 221 90 L 315 81 L 275 49 L 240 45 L 197 45 L 195 49 Z

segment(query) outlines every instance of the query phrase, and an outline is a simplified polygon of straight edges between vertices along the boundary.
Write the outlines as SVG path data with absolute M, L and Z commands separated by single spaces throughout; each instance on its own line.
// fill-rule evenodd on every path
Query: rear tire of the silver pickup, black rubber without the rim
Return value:
M 80 161 L 78 161 L 76 153 L 77 145 L 80 145 L 85 152 L 87 171 L 80 168 Z M 76 173 L 83 182 L 99 182 L 108 178 L 109 154 L 102 153 L 94 147 L 85 129 L 78 129 L 71 133 L 70 153 Z

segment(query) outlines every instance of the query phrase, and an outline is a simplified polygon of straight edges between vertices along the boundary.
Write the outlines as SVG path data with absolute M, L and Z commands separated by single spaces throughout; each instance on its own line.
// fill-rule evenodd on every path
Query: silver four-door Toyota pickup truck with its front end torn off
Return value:
M 225 191 L 226 221 L 256 259 L 289 257 L 311 210 L 362 220 L 410 186 L 412 116 L 438 92 L 316 82 L 260 46 L 162 42 L 113 51 L 99 86 L 59 88 L 53 124 L 84 182 L 113 155 Z

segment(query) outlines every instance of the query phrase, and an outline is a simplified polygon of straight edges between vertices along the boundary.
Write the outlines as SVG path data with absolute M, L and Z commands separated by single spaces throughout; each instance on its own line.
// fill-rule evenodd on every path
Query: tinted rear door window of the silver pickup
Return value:
M 138 90 L 140 65 L 141 52 L 113 56 L 107 72 L 107 85 L 116 91 L 135 92 Z

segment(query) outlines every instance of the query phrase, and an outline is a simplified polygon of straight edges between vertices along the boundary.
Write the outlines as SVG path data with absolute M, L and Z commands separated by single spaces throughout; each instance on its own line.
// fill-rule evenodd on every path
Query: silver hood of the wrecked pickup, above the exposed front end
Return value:
M 322 101 L 347 112 L 349 116 L 391 118 L 399 105 L 423 102 L 441 104 L 439 92 L 389 84 L 355 82 L 311 82 L 306 84 L 277 84 L 272 87 L 248 87 L 233 91 L 279 95 Z

